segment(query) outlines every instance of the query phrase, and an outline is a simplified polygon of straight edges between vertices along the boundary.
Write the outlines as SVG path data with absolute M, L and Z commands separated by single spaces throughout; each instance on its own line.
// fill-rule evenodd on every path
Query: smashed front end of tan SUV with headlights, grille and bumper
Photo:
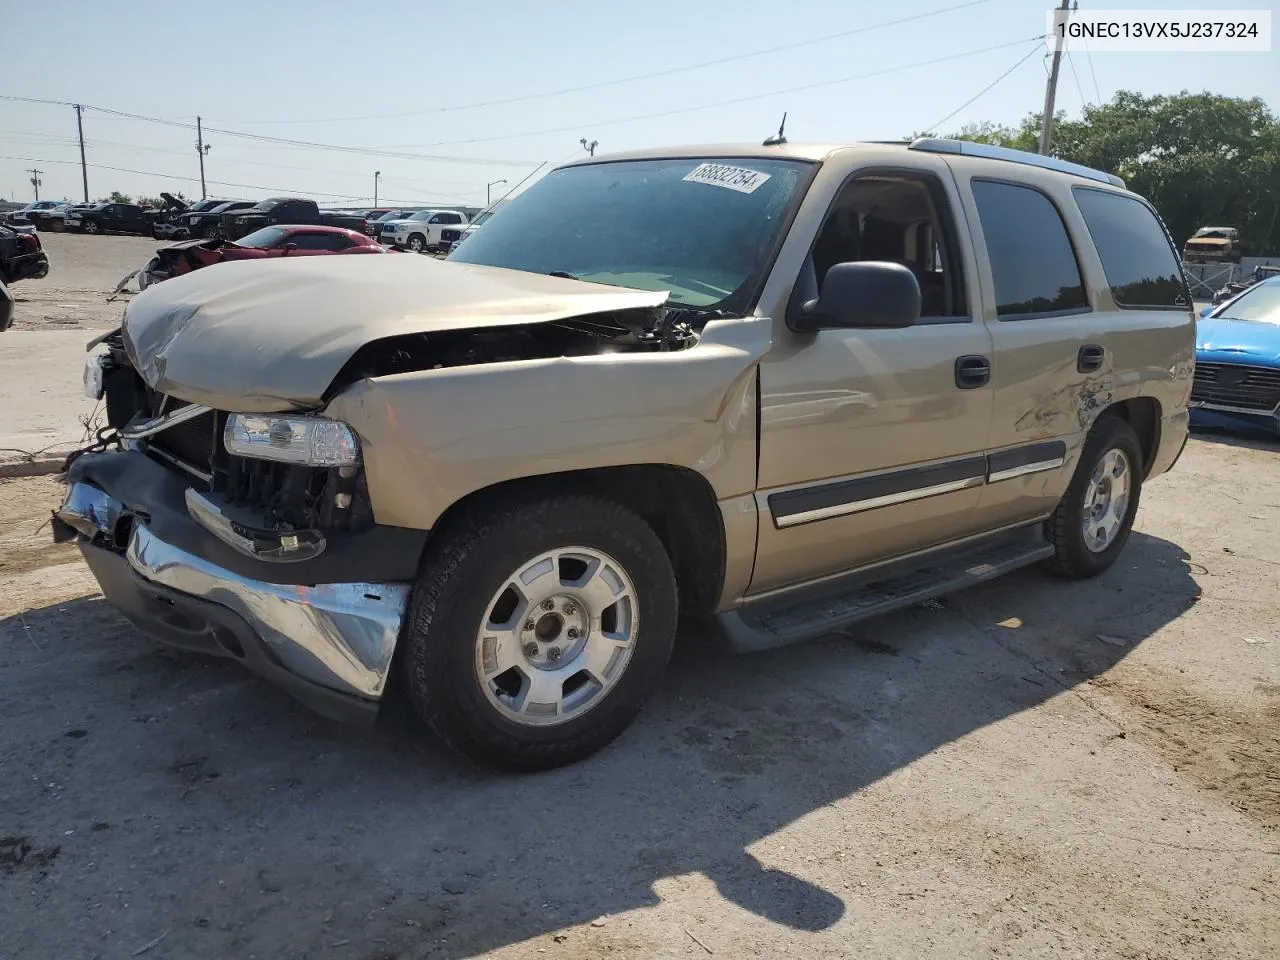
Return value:
M 371 722 L 426 531 L 374 522 L 353 436 L 285 435 L 333 421 L 184 403 L 147 387 L 119 333 L 104 346 L 86 385 L 109 426 L 68 468 L 55 538 L 145 634 Z

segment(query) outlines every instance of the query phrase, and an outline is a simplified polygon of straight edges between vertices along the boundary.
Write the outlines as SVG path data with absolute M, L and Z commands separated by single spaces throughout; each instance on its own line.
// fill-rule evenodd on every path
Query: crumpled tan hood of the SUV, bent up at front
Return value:
M 384 337 L 658 307 L 666 293 L 431 257 L 224 262 L 138 294 L 124 343 L 147 384 L 219 410 L 314 407 Z

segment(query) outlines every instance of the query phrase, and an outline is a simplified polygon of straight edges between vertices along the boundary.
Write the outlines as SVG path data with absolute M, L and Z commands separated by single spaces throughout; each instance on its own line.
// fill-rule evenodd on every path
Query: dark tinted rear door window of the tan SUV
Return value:
M 974 180 L 996 312 L 1006 320 L 1089 308 L 1075 251 L 1053 202 L 1030 187 Z

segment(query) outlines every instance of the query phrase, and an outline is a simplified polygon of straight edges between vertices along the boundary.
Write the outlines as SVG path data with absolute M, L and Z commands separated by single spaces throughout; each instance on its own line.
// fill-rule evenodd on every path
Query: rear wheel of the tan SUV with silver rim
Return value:
M 1112 454 L 1120 458 L 1112 460 Z M 1128 475 L 1123 513 L 1117 504 L 1120 476 L 1115 471 L 1106 484 L 1105 495 L 1098 492 L 1094 475 L 1106 462 L 1123 463 Z M 1129 541 L 1133 520 L 1138 512 L 1144 472 L 1142 444 L 1128 421 L 1116 416 L 1098 420 L 1084 442 L 1080 462 L 1075 467 L 1071 485 L 1066 488 L 1057 509 L 1044 522 L 1044 532 L 1053 545 L 1050 566 L 1070 580 L 1097 576 L 1112 563 Z M 1091 503 L 1093 521 L 1085 524 L 1087 504 Z M 1114 526 L 1112 526 L 1114 525 Z M 1110 527 L 1107 536 L 1100 531 Z

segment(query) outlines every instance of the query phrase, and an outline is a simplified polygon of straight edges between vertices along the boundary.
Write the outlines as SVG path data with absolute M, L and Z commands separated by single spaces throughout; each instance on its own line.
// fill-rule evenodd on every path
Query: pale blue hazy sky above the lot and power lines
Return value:
M 370 204 L 380 172 L 383 202 L 484 206 L 584 156 L 582 138 L 598 155 L 758 142 L 783 111 L 797 142 L 1015 124 L 1043 104 L 1048 56 L 1033 38 L 1051 5 L 0 0 L 0 96 L 86 106 L 91 198 L 198 197 L 183 124 L 200 115 L 211 197 Z M 1280 28 L 1275 0 L 1082 6 L 1271 9 Z M 1057 106 L 1071 116 L 1117 90 L 1261 96 L 1280 110 L 1280 50 L 1068 52 Z M 28 168 L 42 172 L 41 197 L 82 200 L 76 113 L 0 99 L 0 196 L 32 200 Z

